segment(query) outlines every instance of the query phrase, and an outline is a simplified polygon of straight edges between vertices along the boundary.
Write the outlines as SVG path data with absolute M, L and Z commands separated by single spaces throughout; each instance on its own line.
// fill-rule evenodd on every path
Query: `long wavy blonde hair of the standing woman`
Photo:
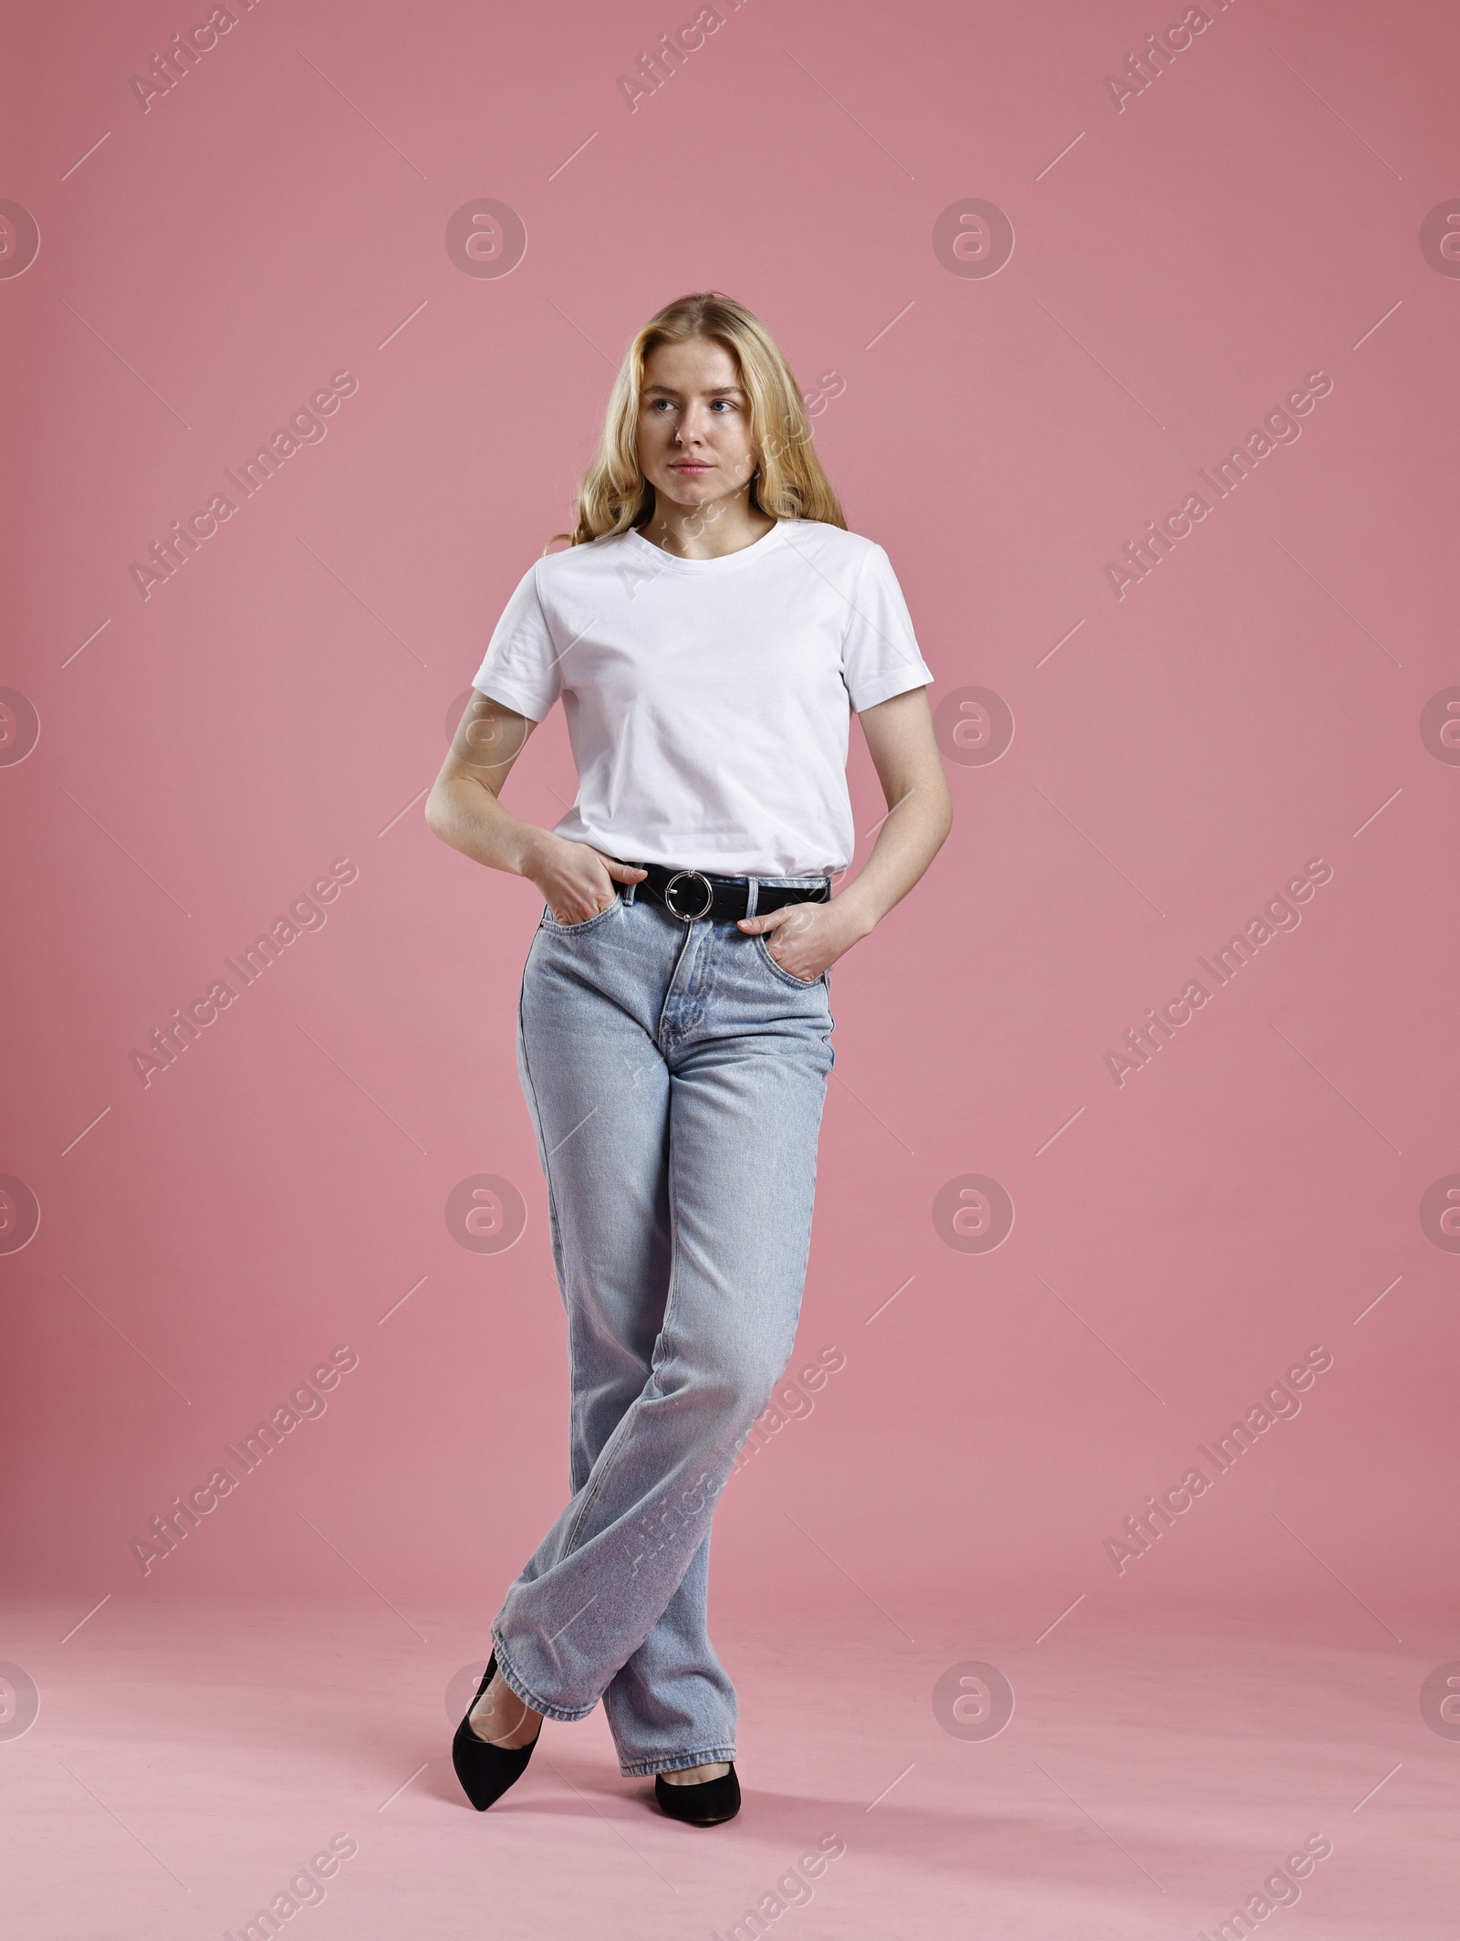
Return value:
M 750 505 L 770 518 L 812 518 L 845 530 L 841 501 L 816 456 L 801 386 L 779 344 L 743 303 L 706 289 L 667 303 L 628 345 L 609 394 L 597 454 L 578 487 L 578 524 L 572 532 L 555 532 L 543 553 L 558 540 L 586 545 L 650 518 L 653 485 L 638 466 L 644 365 L 661 344 L 686 344 L 690 338 L 721 344 L 739 365 L 758 458 L 750 474 Z

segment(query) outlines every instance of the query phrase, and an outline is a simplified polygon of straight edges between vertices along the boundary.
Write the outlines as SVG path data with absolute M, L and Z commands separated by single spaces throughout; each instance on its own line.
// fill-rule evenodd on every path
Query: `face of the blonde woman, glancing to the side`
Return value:
M 644 361 L 638 464 L 655 493 L 682 507 L 743 491 L 756 468 L 741 371 L 710 338 L 661 344 Z

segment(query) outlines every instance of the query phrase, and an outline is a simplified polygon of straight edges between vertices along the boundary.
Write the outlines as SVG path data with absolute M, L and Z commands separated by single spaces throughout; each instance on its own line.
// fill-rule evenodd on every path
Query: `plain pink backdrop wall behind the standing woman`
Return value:
M 423 792 L 628 338 L 719 287 L 805 390 L 843 380 L 818 448 L 935 703 L 993 689 L 1016 732 L 948 763 L 946 848 L 834 970 L 793 1366 L 845 1366 L 729 1491 L 715 1609 L 896 1642 L 874 1601 L 940 1663 L 1078 1597 L 1066 1634 L 1388 1646 L 1454 1599 L 1460 1258 L 1419 1201 L 1460 1168 L 1460 771 L 1419 716 L 1460 681 L 1460 283 L 1419 227 L 1460 194 L 1460 23 L 1214 4 L 1117 113 L 1103 78 L 1179 8 L 723 12 L 634 113 L 615 76 L 688 6 L 264 0 L 147 113 L 128 76 L 188 8 L 12 23 L 0 192 L 41 252 L 0 285 L 0 683 L 41 740 L 0 771 L 0 1172 L 41 1227 L 0 1258 L 10 1582 L 143 1628 L 374 1592 L 485 1638 L 556 1514 L 512 1050 L 539 897 L 436 842 Z M 508 276 L 446 250 L 475 198 L 525 223 Z M 933 248 L 966 198 L 1012 221 L 997 276 Z M 142 600 L 132 561 L 341 371 L 328 437 Z M 1115 598 L 1105 563 L 1313 371 L 1297 443 Z M 508 802 L 551 823 L 572 786 L 558 714 Z M 143 1089 L 130 1054 L 335 858 L 328 924 Z M 1309 858 L 1301 926 L 1117 1087 L 1105 1052 Z M 475 1172 L 525 1198 L 508 1252 L 448 1231 Z M 964 1172 L 1016 1207 L 987 1254 L 935 1229 Z M 130 1541 L 335 1343 L 328 1413 L 143 1578 Z M 1301 1415 L 1117 1576 L 1105 1539 L 1315 1343 Z

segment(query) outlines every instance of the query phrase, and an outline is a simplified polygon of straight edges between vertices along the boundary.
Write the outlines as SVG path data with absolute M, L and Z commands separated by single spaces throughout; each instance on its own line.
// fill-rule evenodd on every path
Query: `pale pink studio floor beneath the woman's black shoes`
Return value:
M 1134 1632 L 1080 1611 L 1043 1642 L 956 1617 L 917 1644 L 873 1621 L 721 1623 L 746 1805 L 690 1830 L 619 1778 L 599 1714 L 547 1726 L 520 1786 L 473 1813 L 446 1691 L 481 1660 L 475 1617 L 111 1601 L 60 1642 L 79 1615 L 29 1605 L 4 1630 L 41 1694 L 0 1739 L 8 1935 L 238 1937 L 337 1838 L 353 1852 L 326 1898 L 299 1881 L 314 1904 L 250 1933 L 308 1914 L 349 1941 L 1216 1941 L 1311 1836 L 1326 1852 L 1301 1898 L 1280 1885 L 1285 1904 L 1225 1933 L 1456 1933 L 1460 1741 L 1419 1710 L 1454 1638 L 1423 1621 L 1402 1644 L 1346 1621 Z M 987 1741 L 931 1702 L 968 1660 L 1016 1694 Z M 809 1885 L 818 1842 L 834 1858 Z

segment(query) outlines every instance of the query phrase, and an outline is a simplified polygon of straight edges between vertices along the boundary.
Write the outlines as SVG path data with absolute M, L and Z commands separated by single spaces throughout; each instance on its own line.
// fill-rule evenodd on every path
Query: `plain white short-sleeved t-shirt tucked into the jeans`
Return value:
M 535 722 L 562 697 L 578 802 L 556 835 L 768 877 L 851 862 L 851 712 L 931 679 L 882 547 L 779 520 L 721 559 L 638 532 L 549 553 L 471 685 Z

